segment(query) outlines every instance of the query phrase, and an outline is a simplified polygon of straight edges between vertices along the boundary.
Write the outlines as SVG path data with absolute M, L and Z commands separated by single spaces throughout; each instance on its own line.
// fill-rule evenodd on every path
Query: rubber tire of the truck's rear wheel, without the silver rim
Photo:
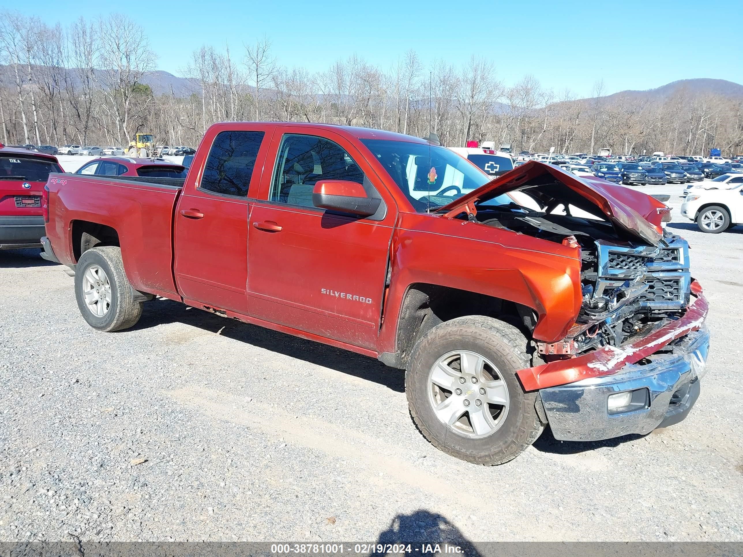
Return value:
M 95 315 L 85 303 L 83 281 L 91 266 L 100 267 L 111 284 L 111 304 L 105 315 Z M 85 251 L 75 267 L 75 297 L 82 318 L 92 328 L 110 332 L 132 327 L 142 316 L 143 302 L 135 300 L 136 292 L 124 273 L 121 248 L 100 246 Z

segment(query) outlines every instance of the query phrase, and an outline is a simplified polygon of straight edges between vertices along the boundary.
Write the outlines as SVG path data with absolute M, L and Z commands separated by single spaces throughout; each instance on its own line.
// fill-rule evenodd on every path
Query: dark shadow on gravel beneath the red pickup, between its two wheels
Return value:
M 221 330 L 221 336 L 227 336 L 230 339 L 374 381 L 392 391 L 400 393 L 405 391 L 404 372 L 388 368 L 376 359 L 323 345 L 320 342 L 299 339 L 296 336 L 278 333 L 257 325 L 227 319 L 194 307 L 189 308 L 172 300 L 155 300 L 144 304 L 142 317 L 137 325 L 129 330 L 146 329 L 172 322 L 185 323 L 212 333 Z

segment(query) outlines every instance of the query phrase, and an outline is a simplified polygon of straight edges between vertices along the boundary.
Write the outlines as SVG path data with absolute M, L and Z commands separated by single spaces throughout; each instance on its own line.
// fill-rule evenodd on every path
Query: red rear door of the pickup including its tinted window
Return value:
M 261 176 L 268 133 L 231 124 L 204 137 L 175 209 L 175 279 L 186 301 L 247 312 L 248 192 Z

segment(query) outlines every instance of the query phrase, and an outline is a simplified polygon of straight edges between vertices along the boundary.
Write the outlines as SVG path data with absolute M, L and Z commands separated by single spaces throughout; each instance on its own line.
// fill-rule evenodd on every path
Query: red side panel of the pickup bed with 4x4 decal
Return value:
M 49 175 L 47 236 L 54 253 L 62 264 L 74 266 L 82 231 L 95 234 L 95 225 L 110 227 L 120 240 L 132 287 L 177 296 L 172 226 L 183 184 L 182 178 Z

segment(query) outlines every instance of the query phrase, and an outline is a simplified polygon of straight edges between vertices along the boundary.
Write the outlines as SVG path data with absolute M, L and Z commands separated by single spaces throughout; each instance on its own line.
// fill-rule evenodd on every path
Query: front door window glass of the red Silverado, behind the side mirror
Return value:
M 312 189 L 318 180 L 348 180 L 364 183 L 364 173 L 345 149 L 314 135 L 283 137 L 270 201 L 313 206 Z

